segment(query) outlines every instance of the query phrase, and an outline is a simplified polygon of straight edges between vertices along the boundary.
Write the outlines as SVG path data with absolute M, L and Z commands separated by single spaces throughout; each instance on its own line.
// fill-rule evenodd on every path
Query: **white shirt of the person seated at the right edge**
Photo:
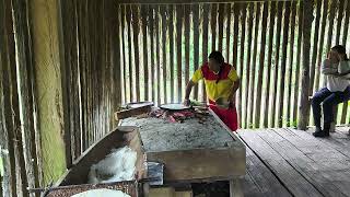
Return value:
M 331 63 L 329 59 L 326 59 L 322 63 L 322 73 L 326 74 L 327 89 L 330 92 L 343 92 L 349 85 L 350 73 L 343 77 L 335 76 L 350 71 L 350 61 L 340 61 L 339 63 Z

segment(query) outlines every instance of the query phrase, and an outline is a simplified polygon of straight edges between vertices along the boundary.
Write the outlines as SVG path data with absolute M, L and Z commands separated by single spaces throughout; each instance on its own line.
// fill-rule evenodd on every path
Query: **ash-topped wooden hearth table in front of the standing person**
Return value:
M 139 127 L 147 160 L 165 164 L 165 184 L 230 181 L 231 196 L 242 196 L 237 178 L 246 173 L 245 146 L 212 111 L 205 123 L 143 116 L 120 126 Z

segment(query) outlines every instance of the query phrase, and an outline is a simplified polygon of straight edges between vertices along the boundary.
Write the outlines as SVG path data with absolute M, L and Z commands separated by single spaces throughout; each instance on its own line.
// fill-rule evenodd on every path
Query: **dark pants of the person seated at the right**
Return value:
M 330 92 L 327 88 L 320 89 L 312 100 L 315 126 L 320 128 L 320 103 L 324 108 L 324 124 L 329 126 L 332 121 L 332 106 L 350 100 L 350 86 L 343 92 Z

